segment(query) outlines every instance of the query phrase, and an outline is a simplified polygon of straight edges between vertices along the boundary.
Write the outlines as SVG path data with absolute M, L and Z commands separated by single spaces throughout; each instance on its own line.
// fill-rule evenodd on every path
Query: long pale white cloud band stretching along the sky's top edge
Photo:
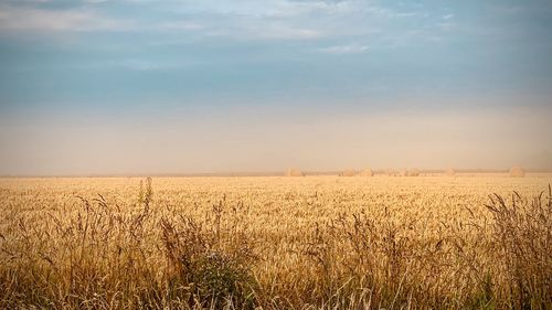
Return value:
M 1 0 L 0 0 L 1 1 Z M 33 0 L 47 1 L 47 0 Z M 193 38 L 255 40 L 317 40 L 320 38 L 363 38 L 371 45 L 396 35 L 389 23 L 423 17 L 420 11 L 396 10 L 364 0 L 121 0 L 120 8 L 138 6 L 129 15 L 109 12 L 108 6 L 92 6 L 107 0 L 79 0 L 73 9 L 46 10 L 33 6 L 0 4 L 0 31 L 3 32 L 86 32 L 137 31 L 178 33 Z M 136 10 L 135 10 L 136 11 Z M 156 11 L 156 14 L 149 14 Z M 138 11 L 137 11 L 138 12 Z M 170 13 L 169 13 L 170 12 Z M 107 13 L 112 13 L 107 17 Z M 158 14 L 159 13 L 159 14 Z M 447 18 L 443 23 L 452 22 Z M 374 33 L 386 28 L 384 34 Z M 346 45 L 320 49 L 330 54 L 363 53 L 368 46 Z

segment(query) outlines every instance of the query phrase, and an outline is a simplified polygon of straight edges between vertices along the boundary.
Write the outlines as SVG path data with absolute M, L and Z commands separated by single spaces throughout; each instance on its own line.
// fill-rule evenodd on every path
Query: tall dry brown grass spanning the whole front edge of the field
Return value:
M 162 195 L 148 179 L 130 202 L 78 196 L 4 217 L 0 308 L 551 309 L 550 186 L 431 231 L 385 206 L 279 234 L 224 195 L 201 211 Z

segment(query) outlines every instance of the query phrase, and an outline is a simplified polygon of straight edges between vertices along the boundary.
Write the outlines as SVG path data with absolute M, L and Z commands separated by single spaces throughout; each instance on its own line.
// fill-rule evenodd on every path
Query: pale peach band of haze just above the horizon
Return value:
M 137 120 L 2 122 L 2 174 L 136 174 L 346 168 L 551 168 L 550 109 L 310 115 L 189 111 Z

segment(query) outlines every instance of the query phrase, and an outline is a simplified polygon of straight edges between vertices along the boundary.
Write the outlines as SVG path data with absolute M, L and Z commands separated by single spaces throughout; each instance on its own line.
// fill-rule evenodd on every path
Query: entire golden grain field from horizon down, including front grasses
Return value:
M 0 179 L 0 308 L 551 309 L 551 182 Z

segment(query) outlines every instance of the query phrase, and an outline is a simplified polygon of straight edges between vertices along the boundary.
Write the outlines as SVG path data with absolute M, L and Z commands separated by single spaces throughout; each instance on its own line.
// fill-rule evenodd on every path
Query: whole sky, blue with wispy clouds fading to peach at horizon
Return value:
M 0 0 L 0 175 L 552 168 L 551 1 Z

